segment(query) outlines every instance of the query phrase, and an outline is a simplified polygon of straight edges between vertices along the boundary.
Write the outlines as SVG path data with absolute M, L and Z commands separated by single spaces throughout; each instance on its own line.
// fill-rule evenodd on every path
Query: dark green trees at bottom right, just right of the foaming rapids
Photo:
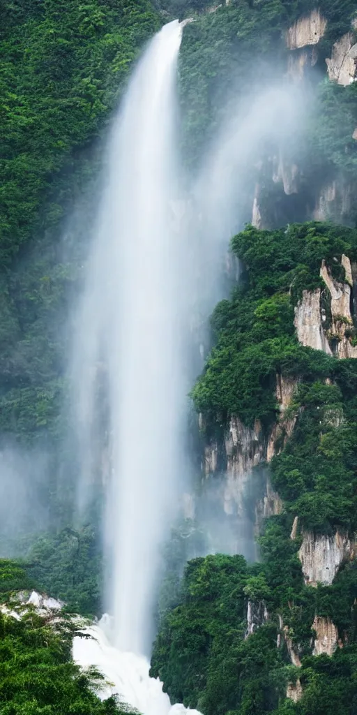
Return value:
M 164 681 L 173 700 L 196 707 L 203 715 L 353 715 L 357 614 L 354 608 L 351 616 L 351 604 L 356 568 L 353 574 L 341 572 L 331 588 L 313 589 L 303 586 L 283 522 L 273 520 L 262 543 L 263 563 L 253 566 L 241 556 L 219 554 L 188 563 L 179 605 L 168 613 L 156 639 L 151 675 Z M 338 603 L 341 596 L 343 605 Z M 269 617 L 244 638 L 248 598 L 253 608 L 263 599 Z M 333 601 L 344 612 L 338 625 L 343 628 L 348 622 L 348 646 L 332 658 L 311 657 L 314 614 L 329 614 L 326 605 Z M 301 669 L 288 658 L 277 612 L 295 644 L 303 644 Z M 301 701 L 293 704 L 285 694 L 296 677 L 304 691 Z

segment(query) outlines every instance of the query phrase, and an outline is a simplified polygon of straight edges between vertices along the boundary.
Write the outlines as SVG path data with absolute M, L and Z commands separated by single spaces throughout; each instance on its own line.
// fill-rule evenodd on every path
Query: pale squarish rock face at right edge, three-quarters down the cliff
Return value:
M 356 541 L 338 531 L 334 536 L 315 536 L 303 533 L 303 543 L 298 551 L 305 582 L 309 586 L 324 583 L 331 586 L 341 563 L 356 553 Z

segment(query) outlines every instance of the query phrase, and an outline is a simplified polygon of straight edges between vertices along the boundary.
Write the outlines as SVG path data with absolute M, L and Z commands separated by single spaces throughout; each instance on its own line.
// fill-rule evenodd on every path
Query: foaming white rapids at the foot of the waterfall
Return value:
M 106 616 L 101 623 L 106 627 Z M 101 699 L 119 694 L 123 702 L 139 710 L 142 715 L 200 715 L 197 710 L 183 705 L 171 706 L 169 696 L 163 693 L 162 683 L 149 677 L 149 661 L 144 656 L 123 653 L 111 646 L 104 629 L 86 628 L 91 638 L 74 638 L 74 660 L 86 668 L 96 666 L 105 676 L 99 696 Z

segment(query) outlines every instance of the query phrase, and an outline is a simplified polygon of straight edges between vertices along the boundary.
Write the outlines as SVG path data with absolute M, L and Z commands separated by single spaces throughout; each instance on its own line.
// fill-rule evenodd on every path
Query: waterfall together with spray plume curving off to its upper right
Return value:
M 185 466 L 185 395 L 196 377 L 195 360 L 190 365 L 187 358 L 197 340 L 191 320 L 202 316 L 204 340 L 206 319 L 223 296 L 220 265 L 241 225 L 246 165 L 258 158 L 262 138 L 280 137 L 292 121 L 286 92 L 264 92 L 243 117 L 237 109 L 208 147 L 191 198 L 182 201 L 175 152 L 181 31 L 175 21 L 151 41 L 114 122 L 72 369 L 82 511 L 98 480 L 98 443 L 106 443 L 106 606 L 112 614 L 90 629 L 95 641 L 75 639 L 74 657 L 99 666 L 114 691 L 144 715 L 186 712 L 171 708 L 159 681 L 149 679 L 143 654 L 153 635 L 159 547 Z M 103 400 L 104 394 L 108 418 L 99 438 L 98 395 Z

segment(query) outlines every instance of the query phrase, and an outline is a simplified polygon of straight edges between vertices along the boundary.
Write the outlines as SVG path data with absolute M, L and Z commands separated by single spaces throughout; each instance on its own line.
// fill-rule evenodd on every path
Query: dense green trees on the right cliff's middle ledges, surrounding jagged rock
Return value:
M 244 262 L 232 300 L 213 313 L 216 346 L 195 388 L 193 401 L 205 417 L 206 437 L 222 435 L 231 415 L 252 425 L 261 420 L 268 435 L 278 416 L 276 375 L 296 378 L 290 406 L 296 428 L 273 459 L 273 485 L 288 513 L 323 533 L 356 522 L 356 360 L 339 361 L 303 347 L 293 326 L 293 308 L 303 289 L 321 285 L 328 327 L 328 291 L 319 277 L 321 260 L 345 252 L 356 259 L 357 231 L 307 223 L 258 231 L 247 227 L 233 238 Z M 339 266 L 339 268 L 338 268 Z M 326 384 L 328 382 L 328 384 Z

